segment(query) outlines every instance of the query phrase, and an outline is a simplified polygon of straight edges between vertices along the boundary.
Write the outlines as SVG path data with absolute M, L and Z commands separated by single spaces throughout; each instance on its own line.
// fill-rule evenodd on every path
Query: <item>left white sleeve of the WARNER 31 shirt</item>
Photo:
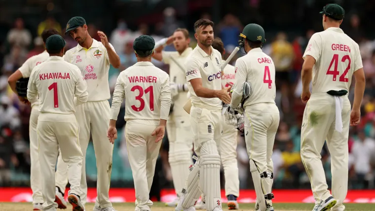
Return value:
M 122 101 L 125 99 L 125 81 L 122 80 L 123 74 L 121 73 L 117 77 L 116 85 L 114 86 L 113 91 L 113 99 L 111 106 L 111 119 L 113 120 L 117 120 L 118 112 L 120 112 Z

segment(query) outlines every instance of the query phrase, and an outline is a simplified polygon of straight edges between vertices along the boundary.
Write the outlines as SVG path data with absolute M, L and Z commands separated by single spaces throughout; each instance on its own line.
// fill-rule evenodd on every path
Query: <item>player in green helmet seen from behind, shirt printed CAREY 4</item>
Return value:
M 279 109 L 275 104 L 275 66 L 263 53 L 264 30 L 257 24 L 248 24 L 240 34 L 240 46 L 245 56 L 235 64 L 230 109 L 241 104 L 245 117 L 245 142 L 250 159 L 250 172 L 257 194 L 257 211 L 273 211 L 272 183 L 273 143 L 279 126 Z M 251 86 L 250 96 L 243 99 L 245 82 Z

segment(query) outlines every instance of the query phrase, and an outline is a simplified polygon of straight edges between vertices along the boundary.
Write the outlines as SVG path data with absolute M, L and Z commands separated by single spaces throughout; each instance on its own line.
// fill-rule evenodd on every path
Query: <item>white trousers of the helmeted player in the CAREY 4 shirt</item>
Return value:
M 245 142 L 249 159 L 260 173 L 273 172 L 271 159 L 280 114 L 275 104 L 256 104 L 245 107 Z

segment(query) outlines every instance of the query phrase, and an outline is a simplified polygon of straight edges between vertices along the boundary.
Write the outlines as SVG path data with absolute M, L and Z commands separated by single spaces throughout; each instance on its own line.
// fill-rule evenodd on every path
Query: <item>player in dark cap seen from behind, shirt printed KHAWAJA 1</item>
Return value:
M 37 133 L 44 211 L 56 211 L 58 207 L 54 185 L 59 147 L 68 165 L 71 184 L 68 201 L 73 211 L 84 211 L 79 198 L 83 155 L 74 113 L 76 104 L 87 102 L 87 84 L 80 70 L 63 60 L 65 44 L 60 35 L 47 38 L 45 46 L 49 58 L 33 69 L 27 89 L 29 102 L 39 101 Z

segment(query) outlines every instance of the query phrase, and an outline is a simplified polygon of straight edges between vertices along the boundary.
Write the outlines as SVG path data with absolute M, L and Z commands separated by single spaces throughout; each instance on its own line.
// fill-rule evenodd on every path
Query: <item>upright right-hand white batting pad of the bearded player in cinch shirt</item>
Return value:
M 222 197 L 220 192 L 220 155 L 216 142 L 206 141 L 200 149 L 200 179 L 199 187 L 204 194 L 206 210 L 213 211 L 220 206 Z

